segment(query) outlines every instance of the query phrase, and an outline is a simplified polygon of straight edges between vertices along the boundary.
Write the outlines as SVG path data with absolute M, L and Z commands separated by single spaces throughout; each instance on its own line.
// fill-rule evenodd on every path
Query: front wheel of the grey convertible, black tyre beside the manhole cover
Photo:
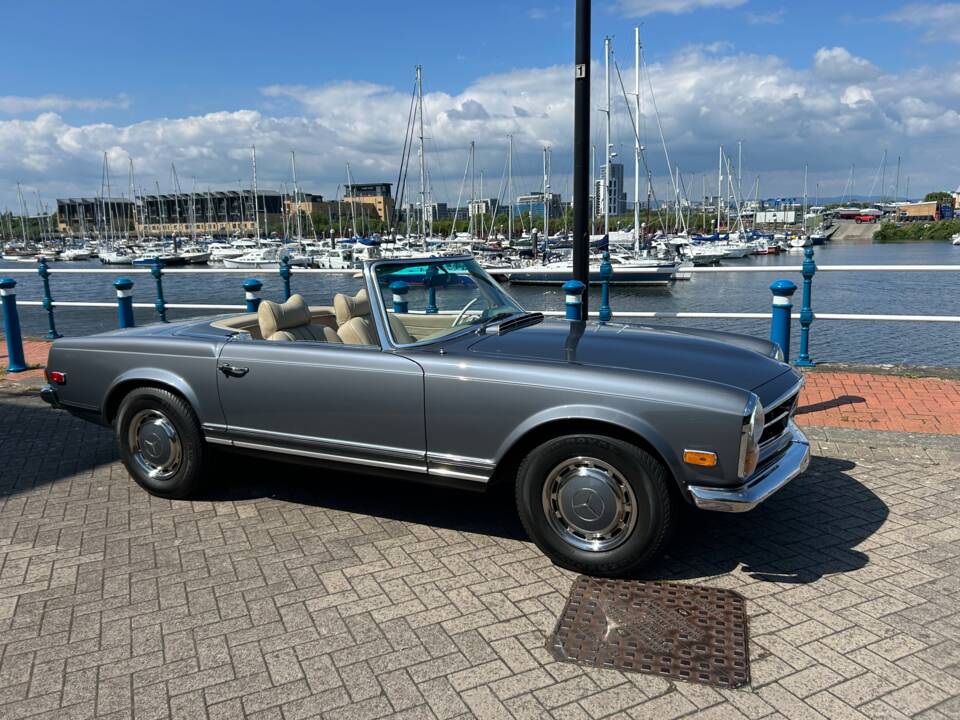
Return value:
M 610 539 L 602 541 L 609 543 L 609 547 L 589 549 L 575 544 L 589 544 L 591 536 L 581 538 L 577 534 L 579 528 L 570 528 L 561 512 L 566 507 L 564 498 L 567 495 L 562 491 L 552 492 L 557 483 L 562 482 L 555 479 L 555 474 L 564 466 L 573 471 L 567 473 L 568 478 L 579 477 L 581 472 L 599 472 L 599 477 L 606 475 L 615 481 L 614 487 L 618 488 L 615 494 L 633 500 L 632 503 L 623 500 L 618 505 L 618 509 L 633 507 L 634 520 L 632 525 L 626 520 L 621 521 L 609 534 Z M 563 477 L 563 471 L 560 472 Z M 548 482 L 551 491 L 545 492 Z M 527 533 L 557 565 L 588 575 L 629 577 L 655 559 L 669 540 L 677 513 L 670 482 L 672 480 L 663 465 L 642 448 L 599 435 L 567 435 L 539 446 L 520 464 L 516 483 L 517 511 Z M 569 507 L 574 513 L 579 512 L 577 507 L 587 508 L 588 504 L 588 501 L 577 504 L 578 496 L 583 499 L 586 497 L 583 493 L 588 493 L 598 497 L 598 493 L 589 488 L 569 492 L 572 493 L 568 493 Z M 604 492 L 601 490 L 601 495 Z M 548 507 L 554 508 L 553 512 Z M 596 520 L 604 512 L 602 498 L 599 508 Z M 630 514 L 615 513 L 615 516 L 626 518 Z M 582 517 L 577 522 L 579 520 Z

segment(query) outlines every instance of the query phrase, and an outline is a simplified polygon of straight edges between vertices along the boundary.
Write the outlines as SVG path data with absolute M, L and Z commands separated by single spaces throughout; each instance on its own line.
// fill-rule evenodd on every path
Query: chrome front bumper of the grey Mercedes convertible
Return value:
M 747 512 L 797 477 L 810 464 L 810 442 L 793 420 L 787 431 L 790 433 L 787 449 L 743 485 L 735 488 L 689 486 L 693 504 L 702 510 Z

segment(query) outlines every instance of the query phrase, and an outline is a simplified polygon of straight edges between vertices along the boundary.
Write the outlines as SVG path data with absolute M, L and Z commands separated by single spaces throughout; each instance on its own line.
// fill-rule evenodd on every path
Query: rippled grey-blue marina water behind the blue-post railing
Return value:
M 938 265 L 960 264 L 960 247 L 949 243 L 870 244 L 833 242 L 816 249 L 819 265 Z M 754 256 L 725 261 L 725 265 L 799 265 L 800 252 Z M 0 268 L 30 267 L 25 263 L 2 262 Z M 103 268 L 96 261 L 51 264 L 52 270 L 83 267 Z M 116 267 L 115 274 L 59 275 L 51 277 L 54 300 L 112 302 L 115 277 L 129 275 L 128 268 Z M 3 274 L 0 269 L 0 275 Z M 276 270 L 254 270 L 250 275 L 263 281 L 262 296 L 280 300 L 282 285 Z M 39 300 L 43 292 L 36 274 L 14 275 L 20 300 Z M 134 281 L 134 300 L 153 303 L 156 286 L 146 274 L 129 275 Z M 217 273 L 165 275 L 164 294 L 169 303 L 243 304 L 241 283 L 246 276 Z M 795 272 L 695 273 L 690 281 L 670 287 L 625 287 L 611 289 L 614 320 L 618 311 L 659 312 L 769 312 L 770 283 L 784 277 L 800 285 Z M 293 292 L 312 305 L 332 304 L 334 293 L 356 292 L 361 281 L 349 275 L 314 275 L 293 270 Z M 529 310 L 562 310 L 559 287 L 507 286 L 509 292 Z M 591 309 L 599 307 L 600 291 L 591 288 Z M 800 292 L 794 296 L 799 312 Z M 960 273 L 918 272 L 820 272 L 813 283 L 813 307 L 823 313 L 960 315 Z M 170 310 L 171 320 L 205 314 L 203 311 Z M 212 313 L 206 313 L 212 314 Z M 41 337 L 46 332 L 46 315 L 39 307 L 20 310 L 24 333 Z M 137 308 L 138 324 L 155 322 L 152 309 Z M 59 308 L 57 328 L 64 335 L 87 335 L 116 327 L 112 308 Z M 682 325 L 742 332 L 766 337 L 768 320 L 632 320 L 655 326 Z M 798 331 L 794 323 L 794 331 Z M 819 321 L 811 332 L 811 355 L 821 362 L 960 367 L 960 329 L 947 323 L 876 321 Z M 792 342 L 797 347 L 796 338 Z M 709 363 L 709 357 L 703 362 Z

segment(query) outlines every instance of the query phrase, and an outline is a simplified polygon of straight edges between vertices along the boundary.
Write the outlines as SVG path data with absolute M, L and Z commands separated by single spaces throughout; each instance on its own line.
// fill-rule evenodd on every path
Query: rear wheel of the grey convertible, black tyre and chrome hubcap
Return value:
M 147 435 L 138 432 L 134 424 Z M 171 429 L 175 440 L 169 435 Z M 207 453 L 197 416 L 179 395 L 155 387 L 130 391 L 120 403 L 114 435 L 127 471 L 151 495 L 185 498 L 199 490 Z M 156 451 L 157 465 L 153 466 L 154 472 L 150 472 L 154 459 L 150 455 L 158 440 L 167 447 Z

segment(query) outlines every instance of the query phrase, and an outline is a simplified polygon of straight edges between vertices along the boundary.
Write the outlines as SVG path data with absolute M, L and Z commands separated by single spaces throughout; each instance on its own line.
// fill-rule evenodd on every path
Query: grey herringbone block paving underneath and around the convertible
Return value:
M 232 460 L 170 502 L 33 395 L 0 428 L 4 720 L 960 717 L 958 438 L 814 428 L 803 478 L 687 522 L 649 574 L 748 598 L 718 691 L 553 661 L 573 576 L 508 498 Z

